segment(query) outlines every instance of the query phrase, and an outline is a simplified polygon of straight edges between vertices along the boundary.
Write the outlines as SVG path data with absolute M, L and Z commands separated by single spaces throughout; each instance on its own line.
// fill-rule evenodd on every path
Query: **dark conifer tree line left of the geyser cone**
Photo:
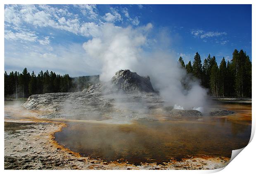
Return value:
M 97 75 L 92 77 L 96 81 L 99 79 Z M 90 76 L 71 78 L 69 74 L 59 75 L 48 70 L 40 71 L 36 76 L 34 71 L 30 74 L 27 68 L 22 73 L 12 71 L 9 75 L 5 71 L 5 97 L 27 98 L 32 94 L 76 92 L 88 87 L 89 83 L 93 83 Z

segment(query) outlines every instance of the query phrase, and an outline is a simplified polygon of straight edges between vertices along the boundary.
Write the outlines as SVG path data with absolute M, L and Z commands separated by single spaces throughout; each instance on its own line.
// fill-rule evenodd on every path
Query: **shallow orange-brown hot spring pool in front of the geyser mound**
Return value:
M 55 134 L 66 148 L 91 158 L 130 163 L 166 162 L 192 155 L 231 157 L 251 135 L 251 105 L 223 105 L 229 116 L 199 120 L 134 120 L 130 125 L 68 122 Z

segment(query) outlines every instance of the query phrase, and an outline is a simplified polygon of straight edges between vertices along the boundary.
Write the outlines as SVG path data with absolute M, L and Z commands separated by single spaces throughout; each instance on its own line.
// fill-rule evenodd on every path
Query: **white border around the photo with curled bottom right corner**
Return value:
M 60 3 L 61 2 L 61 3 Z M 0 24 L 2 25 L 1 27 L 1 71 L 2 74 L 4 73 L 4 4 L 252 4 L 252 48 L 256 48 L 255 46 L 255 41 L 256 41 L 256 35 L 255 35 L 255 21 L 256 21 L 256 1 L 255 0 L 179 0 L 179 1 L 168 1 L 168 0 L 2 0 L 1 1 L 2 6 L 0 7 L 1 10 L 1 18 L 0 18 Z M 235 19 L 234 19 L 235 21 Z M 254 63 L 254 58 L 255 56 L 255 50 L 252 49 L 252 54 L 251 54 L 251 60 L 252 60 L 252 77 L 255 77 L 255 63 Z M 0 72 L 1 72 L 0 71 Z M 4 76 L 0 75 L 0 80 L 1 80 L 1 94 L 0 94 L 0 102 L 1 102 L 1 113 L 2 113 L 2 124 L 1 124 L 1 150 L 2 150 L 2 155 L 4 155 Z M 255 88 L 255 82 L 254 79 L 252 79 L 252 89 Z M 252 92 L 252 98 L 255 98 L 255 92 L 253 90 Z M 255 111 L 255 105 L 254 102 L 252 103 L 252 133 L 251 133 L 251 139 L 250 143 L 247 147 L 244 148 L 243 152 L 240 153 L 230 164 L 225 167 L 224 170 L 222 169 L 216 169 L 216 170 L 175 170 L 175 171 L 170 171 L 170 172 L 175 172 L 175 173 L 212 173 L 212 172 L 217 172 L 222 170 L 221 172 L 235 172 L 235 173 L 251 173 L 251 171 L 255 171 L 254 165 L 254 155 L 256 155 L 256 141 L 255 139 L 252 139 L 255 133 L 255 116 L 254 116 L 254 111 Z M 1 169 L 4 170 L 4 158 L 2 156 L 0 160 L 1 164 Z M 12 172 L 21 172 L 21 173 L 32 173 L 35 172 L 34 170 L 20 170 L 20 171 L 13 171 L 13 170 L 5 170 L 3 171 L 5 173 L 12 173 Z M 42 173 L 45 172 L 45 170 L 37 170 L 36 172 Z M 48 171 L 47 171 L 48 172 Z M 69 173 L 70 171 L 63 171 L 63 170 L 52 170 L 49 172 L 64 172 L 64 173 Z M 116 171 L 116 170 L 110 170 L 110 171 L 102 171 L 102 170 L 96 170 L 96 171 L 72 171 L 72 172 L 90 172 L 90 173 L 99 173 L 99 172 L 107 172 L 107 173 L 119 173 L 119 172 L 131 172 L 131 171 Z M 163 171 L 150 171 L 150 170 L 143 170 L 143 171 L 133 171 L 133 172 L 147 172 L 147 173 L 152 173 L 152 172 L 161 172 L 161 173 L 167 173 L 169 172 L 168 170 L 163 170 Z

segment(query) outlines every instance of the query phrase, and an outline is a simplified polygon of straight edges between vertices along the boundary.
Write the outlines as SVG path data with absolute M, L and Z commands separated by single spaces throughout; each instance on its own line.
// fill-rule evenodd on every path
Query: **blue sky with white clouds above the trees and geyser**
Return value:
M 5 5 L 8 73 L 27 67 L 94 75 L 105 63 L 155 50 L 185 63 L 196 52 L 202 61 L 211 54 L 219 63 L 234 49 L 251 58 L 251 5 Z

